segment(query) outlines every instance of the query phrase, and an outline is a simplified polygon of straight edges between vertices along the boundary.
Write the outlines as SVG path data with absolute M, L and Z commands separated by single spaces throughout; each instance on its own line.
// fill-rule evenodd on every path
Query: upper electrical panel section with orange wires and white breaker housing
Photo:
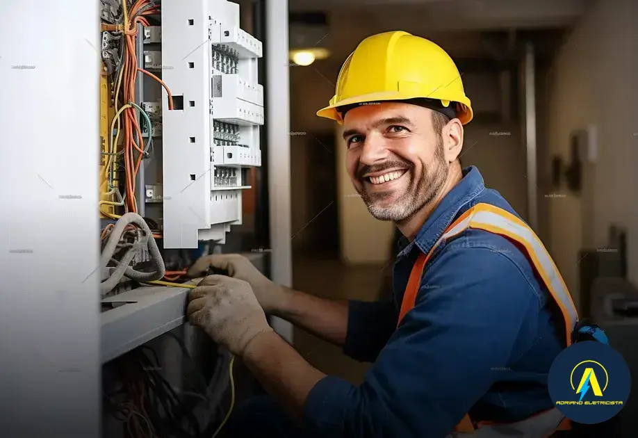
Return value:
M 226 0 L 102 3 L 101 218 L 139 213 L 165 250 L 224 243 L 261 166 L 261 42 Z

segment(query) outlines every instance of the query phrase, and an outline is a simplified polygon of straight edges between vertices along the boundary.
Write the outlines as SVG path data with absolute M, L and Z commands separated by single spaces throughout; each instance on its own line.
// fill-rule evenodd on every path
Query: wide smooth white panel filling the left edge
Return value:
M 99 437 L 99 2 L 0 1 L 2 437 Z

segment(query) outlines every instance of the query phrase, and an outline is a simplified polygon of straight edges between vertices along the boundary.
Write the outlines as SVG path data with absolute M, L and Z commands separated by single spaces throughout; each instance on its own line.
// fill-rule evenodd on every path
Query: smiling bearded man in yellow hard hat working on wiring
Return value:
M 393 300 L 322 300 L 273 284 L 242 257 L 215 255 L 190 273 L 215 266 L 232 278 L 194 289 L 190 322 L 318 437 L 551 435 L 563 417 L 547 374 L 577 316 L 535 234 L 477 168 L 461 170 L 472 109 L 451 58 L 408 33 L 373 35 L 347 58 L 318 115 L 343 123 L 354 188 L 404 236 Z M 313 368 L 264 312 L 374 362 L 363 384 Z M 258 421 L 258 410 L 243 423 Z

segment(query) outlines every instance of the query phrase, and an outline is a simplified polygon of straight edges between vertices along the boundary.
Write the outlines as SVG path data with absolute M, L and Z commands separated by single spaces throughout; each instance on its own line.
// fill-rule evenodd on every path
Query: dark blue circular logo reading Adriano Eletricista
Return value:
M 550 398 L 568 419 L 603 423 L 627 403 L 631 376 L 619 352 L 597 341 L 578 342 L 563 350 L 548 375 Z

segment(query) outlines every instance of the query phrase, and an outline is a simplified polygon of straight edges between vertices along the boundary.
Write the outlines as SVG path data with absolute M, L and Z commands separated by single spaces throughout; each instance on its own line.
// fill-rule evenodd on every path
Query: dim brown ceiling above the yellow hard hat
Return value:
M 293 12 L 324 12 L 327 34 L 318 45 L 332 51 L 325 63 L 342 63 L 369 35 L 403 30 L 441 45 L 453 57 L 493 58 L 486 31 L 562 29 L 589 0 L 289 0 Z M 317 5 L 320 5 L 318 7 Z M 557 41 L 558 43 L 558 41 Z

